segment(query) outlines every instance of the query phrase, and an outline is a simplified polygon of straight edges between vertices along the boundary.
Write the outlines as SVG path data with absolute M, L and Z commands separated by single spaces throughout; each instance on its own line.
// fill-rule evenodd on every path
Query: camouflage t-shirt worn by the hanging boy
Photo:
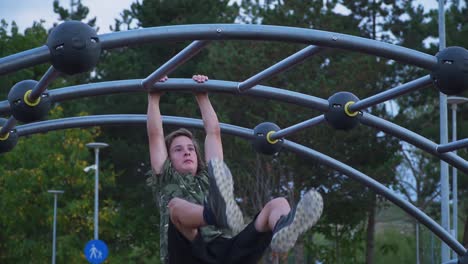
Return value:
M 178 197 L 186 201 L 203 205 L 205 194 L 208 193 L 208 173 L 202 170 L 196 176 L 182 174 L 174 170 L 172 163 L 166 160 L 161 174 L 151 173 L 147 184 L 152 188 L 153 197 L 160 212 L 160 253 L 163 263 L 167 263 L 167 231 L 169 227 L 169 208 L 167 204 L 172 198 Z M 199 229 L 203 240 L 211 241 L 218 236 L 231 237 L 229 230 L 205 226 Z

